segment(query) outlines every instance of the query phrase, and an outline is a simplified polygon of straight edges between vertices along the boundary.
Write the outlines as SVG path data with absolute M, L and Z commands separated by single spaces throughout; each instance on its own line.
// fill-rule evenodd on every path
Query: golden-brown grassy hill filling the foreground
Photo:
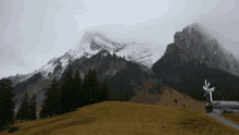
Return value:
M 104 101 L 76 111 L 15 123 L 12 135 L 238 135 L 205 112 L 179 107 Z M 10 134 L 8 131 L 0 134 Z

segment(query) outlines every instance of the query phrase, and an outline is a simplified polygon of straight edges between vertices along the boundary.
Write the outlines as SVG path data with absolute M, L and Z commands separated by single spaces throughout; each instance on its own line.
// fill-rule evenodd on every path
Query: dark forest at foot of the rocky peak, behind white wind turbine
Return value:
M 204 63 L 194 65 L 191 62 L 184 62 L 177 65 L 179 83 L 174 79 L 164 79 L 164 84 L 174 89 L 187 94 L 197 100 L 210 100 L 204 97 L 203 85 L 205 79 L 210 83 L 210 88 L 215 87 L 212 93 L 213 100 L 235 100 L 239 101 L 239 77 L 221 69 L 207 68 Z

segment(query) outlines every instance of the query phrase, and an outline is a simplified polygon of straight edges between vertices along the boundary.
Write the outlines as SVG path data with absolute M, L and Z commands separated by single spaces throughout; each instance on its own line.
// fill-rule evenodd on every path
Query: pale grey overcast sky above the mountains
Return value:
M 88 29 L 166 46 L 201 22 L 236 54 L 238 13 L 239 0 L 0 0 L 0 78 L 63 56 Z

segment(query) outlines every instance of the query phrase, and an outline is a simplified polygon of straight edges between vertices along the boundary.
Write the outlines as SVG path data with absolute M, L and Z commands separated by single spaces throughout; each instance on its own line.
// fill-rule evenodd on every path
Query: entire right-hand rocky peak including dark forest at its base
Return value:
M 164 84 L 194 99 L 205 100 L 202 85 L 207 79 L 216 89 L 213 99 L 238 100 L 236 59 L 226 57 L 217 40 L 200 28 L 200 25 L 192 24 L 176 33 L 174 42 L 167 46 L 152 71 Z

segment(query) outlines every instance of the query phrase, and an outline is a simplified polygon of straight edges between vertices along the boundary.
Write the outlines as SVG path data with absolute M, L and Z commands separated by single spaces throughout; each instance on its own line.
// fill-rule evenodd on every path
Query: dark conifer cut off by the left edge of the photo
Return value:
M 14 96 L 11 79 L 3 78 L 0 83 L 0 128 L 14 123 Z

